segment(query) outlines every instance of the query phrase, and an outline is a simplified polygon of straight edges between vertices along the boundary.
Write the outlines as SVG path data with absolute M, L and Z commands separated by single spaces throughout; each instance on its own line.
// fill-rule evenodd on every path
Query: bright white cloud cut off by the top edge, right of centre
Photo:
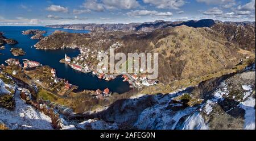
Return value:
M 143 0 L 144 3 L 150 3 L 158 9 L 179 9 L 185 5 L 184 0 Z

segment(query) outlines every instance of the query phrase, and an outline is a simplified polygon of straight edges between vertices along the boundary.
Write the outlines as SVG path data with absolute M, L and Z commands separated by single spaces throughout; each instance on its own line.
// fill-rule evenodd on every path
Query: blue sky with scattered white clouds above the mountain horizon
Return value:
M 0 0 L 0 25 L 255 21 L 255 0 Z

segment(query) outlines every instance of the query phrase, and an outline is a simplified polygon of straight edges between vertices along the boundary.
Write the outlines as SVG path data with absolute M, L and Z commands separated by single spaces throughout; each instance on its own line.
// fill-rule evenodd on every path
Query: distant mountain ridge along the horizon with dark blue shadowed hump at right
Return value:
M 212 27 L 214 24 L 233 24 L 233 25 L 251 25 L 255 26 L 255 22 L 221 22 L 220 20 L 213 19 L 201 19 L 201 20 L 188 20 L 188 21 L 177 21 L 170 22 L 164 20 L 156 20 L 155 22 L 146 22 L 146 23 L 129 23 L 129 24 L 56 24 L 56 25 L 47 25 L 46 27 L 51 28 L 67 28 L 72 30 L 97 30 L 101 28 L 106 31 L 144 31 L 151 32 L 159 28 L 166 27 L 176 27 L 176 26 L 188 26 L 188 27 Z

